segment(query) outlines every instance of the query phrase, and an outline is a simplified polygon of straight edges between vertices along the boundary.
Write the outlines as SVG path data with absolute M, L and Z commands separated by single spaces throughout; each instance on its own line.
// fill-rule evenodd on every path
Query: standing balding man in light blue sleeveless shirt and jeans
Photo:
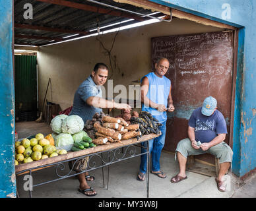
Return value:
M 145 75 L 141 80 L 141 102 L 142 110 L 148 111 L 156 118 L 162 126 L 159 128 L 162 135 L 148 141 L 149 151 L 152 158 L 152 171 L 160 178 L 166 178 L 166 174 L 160 171 L 160 155 L 166 138 L 166 111 L 174 111 L 172 101 L 172 84 L 171 81 L 164 76 L 170 67 L 170 63 L 166 58 L 158 59 L 155 64 L 155 71 Z M 146 142 L 143 142 L 146 146 Z M 141 148 L 142 152 L 146 152 Z M 146 154 L 141 156 L 141 165 L 137 179 L 144 181 L 146 173 Z

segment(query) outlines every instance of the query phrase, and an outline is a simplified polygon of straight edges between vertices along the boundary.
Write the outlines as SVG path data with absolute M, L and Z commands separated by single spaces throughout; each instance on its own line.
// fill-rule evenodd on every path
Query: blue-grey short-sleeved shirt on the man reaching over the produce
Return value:
M 86 104 L 86 100 L 91 96 L 102 98 L 102 89 L 88 76 L 75 92 L 73 108 L 69 115 L 79 115 L 85 124 L 87 120 L 92 119 L 94 113 L 100 113 L 101 108 Z

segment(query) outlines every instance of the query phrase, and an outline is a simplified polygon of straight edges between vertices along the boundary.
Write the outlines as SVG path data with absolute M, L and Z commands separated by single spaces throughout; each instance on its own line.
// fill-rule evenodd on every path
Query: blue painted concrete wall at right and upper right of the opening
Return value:
M 243 177 L 256 169 L 256 1 L 150 0 L 240 28 L 234 113 L 233 171 Z

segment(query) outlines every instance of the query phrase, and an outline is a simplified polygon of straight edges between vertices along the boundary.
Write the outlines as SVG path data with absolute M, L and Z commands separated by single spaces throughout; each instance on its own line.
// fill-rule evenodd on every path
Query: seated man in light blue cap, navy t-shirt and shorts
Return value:
M 217 110 L 217 101 L 212 96 L 205 98 L 202 107 L 195 109 L 189 119 L 188 138 L 177 144 L 176 157 L 179 173 L 172 177 L 172 183 L 187 179 L 185 165 L 187 156 L 210 153 L 220 159 L 220 171 L 216 177 L 219 191 L 226 191 L 223 183 L 226 172 L 232 162 L 232 149 L 226 142 L 227 127 L 224 116 Z

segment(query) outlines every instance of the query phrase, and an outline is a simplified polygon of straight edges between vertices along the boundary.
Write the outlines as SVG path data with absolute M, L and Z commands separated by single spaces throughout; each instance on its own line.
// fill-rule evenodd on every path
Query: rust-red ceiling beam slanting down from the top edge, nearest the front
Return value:
M 94 7 L 90 5 L 84 5 L 81 3 L 75 3 L 73 1 L 66 1 L 66 0 L 36 0 L 36 1 L 42 1 L 45 3 L 50 3 L 53 5 L 61 5 L 64 7 L 72 7 L 75 9 L 81 9 L 84 11 L 91 11 L 94 13 L 101 13 L 101 14 L 107 14 L 107 15 L 112 15 L 112 16 L 122 16 L 124 18 L 132 18 L 135 20 L 143 21 L 144 18 L 138 15 L 131 15 L 130 13 L 125 13 L 125 12 L 119 12 L 119 11 L 113 11 L 110 9 L 104 9 L 102 7 Z

